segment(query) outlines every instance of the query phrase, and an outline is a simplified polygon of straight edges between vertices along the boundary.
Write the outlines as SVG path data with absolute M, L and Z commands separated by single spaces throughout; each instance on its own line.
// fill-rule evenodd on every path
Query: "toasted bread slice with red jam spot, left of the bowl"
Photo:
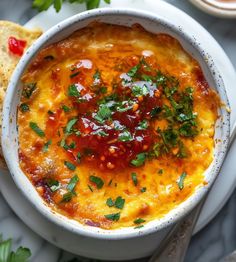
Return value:
M 13 54 L 8 47 L 9 37 L 26 41 L 27 48 L 42 34 L 42 31 L 28 30 L 18 24 L 9 21 L 0 21 L 0 136 L 2 128 L 2 107 L 7 86 L 11 75 L 19 62 L 21 56 Z M 0 144 L 0 167 L 6 168 Z

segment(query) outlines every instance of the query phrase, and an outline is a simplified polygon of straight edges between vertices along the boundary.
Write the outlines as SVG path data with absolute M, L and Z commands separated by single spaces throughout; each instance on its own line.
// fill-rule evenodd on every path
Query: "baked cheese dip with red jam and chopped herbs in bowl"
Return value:
M 140 228 L 206 184 L 219 98 L 170 35 L 92 23 L 22 82 L 20 166 L 54 211 Z

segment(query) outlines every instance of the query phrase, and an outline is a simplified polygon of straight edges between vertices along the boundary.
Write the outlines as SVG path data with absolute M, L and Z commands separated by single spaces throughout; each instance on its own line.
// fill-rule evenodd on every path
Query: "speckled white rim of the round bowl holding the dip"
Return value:
M 6 163 L 8 165 L 8 168 L 10 170 L 11 176 L 16 184 L 16 186 L 20 189 L 20 191 L 23 193 L 23 195 L 26 197 L 27 200 L 47 219 L 52 221 L 53 223 L 56 223 L 57 225 L 72 231 L 74 233 L 87 236 L 87 237 L 93 237 L 97 239 L 129 239 L 134 237 L 139 237 L 140 235 L 148 235 L 155 233 L 161 229 L 164 229 L 170 225 L 173 225 L 178 220 L 182 219 L 186 214 L 188 214 L 203 198 L 203 196 L 206 194 L 206 192 L 209 190 L 209 188 L 212 186 L 214 180 L 217 177 L 217 173 L 220 170 L 220 166 L 223 163 L 223 159 L 226 154 L 226 149 L 229 142 L 229 134 L 230 134 L 230 121 L 229 116 L 230 113 L 228 110 L 225 110 L 225 117 L 224 117 L 224 143 L 222 144 L 223 150 L 222 154 L 218 158 L 218 161 L 215 163 L 216 165 L 216 171 L 215 175 L 211 177 L 209 180 L 209 185 L 206 187 L 201 188 L 200 190 L 197 190 L 192 194 L 191 197 L 189 197 L 187 200 L 182 202 L 180 205 L 178 205 L 174 211 L 172 212 L 171 216 L 164 216 L 160 219 L 155 219 L 151 222 L 148 222 L 143 228 L 140 229 L 134 229 L 133 227 L 128 227 L 125 229 L 115 229 L 115 230 L 104 230 L 100 228 L 96 228 L 95 230 L 91 230 L 91 227 L 84 226 L 81 223 L 69 219 L 68 217 L 57 213 L 56 211 L 53 211 L 51 207 L 49 207 L 43 199 L 39 196 L 41 199 L 40 202 L 36 202 L 31 196 L 26 192 L 26 190 L 22 189 L 20 178 L 17 176 L 17 173 L 22 172 L 18 166 L 15 166 L 14 163 L 12 164 L 11 161 L 11 154 L 8 152 L 8 145 L 10 143 L 9 138 L 9 126 L 10 126 L 10 118 L 11 115 L 11 107 L 13 104 L 13 98 L 16 92 L 16 88 L 18 85 L 18 82 L 20 81 L 20 77 L 28 64 L 32 61 L 33 57 L 39 52 L 39 50 L 44 47 L 44 45 L 47 43 L 48 40 L 55 37 L 61 30 L 66 29 L 73 24 L 79 23 L 81 21 L 85 21 L 88 18 L 94 18 L 97 19 L 99 16 L 111 16 L 111 15 L 123 15 L 123 16 L 131 16 L 136 18 L 142 18 L 149 21 L 154 21 L 156 23 L 160 23 L 164 26 L 167 26 L 171 28 L 175 33 L 182 34 L 181 37 L 184 38 L 186 41 L 192 41 L 195 42 L 196 39 L 194 36 L 190 36 L 190 34 L 187 34 L 186 32 L 183 32 L 180 27 L 177 25 L 172 24 L 169 20 L 157 16 L 151 12 L 148 11 L 140 11 L 133 8 L 99 8 L 92 11 L 85 11 L 83 13 L 79 13 L 75 16 L 72 16 L 70 18 L 67 18 L 66 20 L 60 22 L 59 24 L 53 26 L 51 29 L 46 31 L 23 55 L 21 60 L 19 61 L 8 86 L 5 100 L 4 100 L 4 106 L 3 106 L 3 128 L 2 128 L 2 148 L 3 148 L 3 154 L 6 160 Z M 198 51 L 198 53 L 203 57 L 204 50 L 201 49 L 201 46 L 195 45 L 194 48 Z M 212 60 L 213 61 L 213 60 Z M 208 70 L 211 71 L 211 67 L 209 65 L 210 62 L 205 61 L 206 65 L 208 66 Z M 217 69 L 214 67 L 214 71 L 217 72 Z M 214 79 L 215 80 L 215 79 Z M 217 85 L 217 84 L 216 84 Z M 219 85 L 219 84 L 218 84 Z M 218 86 L 217 85 L 217 86 Z M 221 86 L 221 98 L 225 102 L 226 106 L 229 108 L 229 101 L 227 98 L 226 90 L 224 87 L 223 80 L 221 79 L 220 82 Z M 213 160 L 214 161 L 214 160 Z M 27 177 L 26 177 L 27 178 Z M 28 179 L 28 178 L 27 178 Z M 35 187 L 30 182 L 31 190 L 35 190 Z M 36 190 L 35 190 L 36 191 Z M 193 199 L 192 199 L 193 198 Z M 169 212 L 170 213 L 170 212 Z M 168 213 L 168 214 L 169 214 Z M 152 223 L 152 224 L 151 224 Z M 150 225 L 151 226 L 147 226 Z

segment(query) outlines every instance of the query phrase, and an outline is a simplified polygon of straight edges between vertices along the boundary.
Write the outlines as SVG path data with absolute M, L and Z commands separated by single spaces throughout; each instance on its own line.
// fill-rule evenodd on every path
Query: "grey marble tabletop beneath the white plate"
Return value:
M 153 0 L 159 1 L 159 0 Z M 31 0 L 0 0 L 0 20 L 7 19 L 24 24 L 36 14 L 31 9 Z M 168 0 L 200 22 L 221 44 L 236 67 L 236 21 L 208 16 L 186 0 Z M 233 168 L 233 166 L 232 166 Z M 215 262 L 236 249 L 236 191 L 219 214 L 193 237 L 185 262 Z M 25 225 L 11 211 L 0 194 L 0 233 L 4 238 L 13 238 L 14 246 L 28 246 L 32 251 L 31 261 L 67 262 L 88 261 L 75 258 L 49 244 Z M 74 259 L 75 258 L 75 259 Z M 142 259 L 140 261 L 147 261 Z

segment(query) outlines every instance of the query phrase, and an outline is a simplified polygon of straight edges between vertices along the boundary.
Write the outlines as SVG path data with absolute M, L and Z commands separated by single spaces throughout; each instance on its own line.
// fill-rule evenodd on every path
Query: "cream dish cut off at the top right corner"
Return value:
M 236 18 L 236 1 L 190 0 L 190 2 L 208 14 L 224 18 Z

